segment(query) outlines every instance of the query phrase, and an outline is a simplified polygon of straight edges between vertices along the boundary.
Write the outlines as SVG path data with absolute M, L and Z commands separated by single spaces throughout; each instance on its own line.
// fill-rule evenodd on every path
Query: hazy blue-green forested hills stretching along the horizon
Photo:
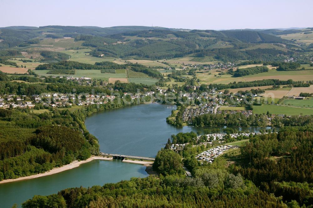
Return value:
M 49 34 L 43 35 L 46 31 Z M 292 33 L 292 32 L 291 32 Z M 239 60 L 284 60 L 307 49 L 292 45 L 291 41 L 266 30 L 214 31 L 153 28 L 153 27 L 72 27 L 43 26 L 0 28 L 0 49 L 30 50 L 44 38 L 72 37 L 82 41 L 79 48 L 90 48 L 90 55 L 99 57 L 139 58 L 150 60 L 175 57 L 211 57 L 224 62 Z M 276 47 L 263 48 L 262 44 Z M 285 47 L 282 45 L 284 44 Z M 73 48 L 75 48 L 73 46 Z M 247 49 L 247 50 L 244 50 Z M 47 54 L 49 53 L 49 54 Z M 59 52 L 44 51 L 43 61 L 65 60 Z

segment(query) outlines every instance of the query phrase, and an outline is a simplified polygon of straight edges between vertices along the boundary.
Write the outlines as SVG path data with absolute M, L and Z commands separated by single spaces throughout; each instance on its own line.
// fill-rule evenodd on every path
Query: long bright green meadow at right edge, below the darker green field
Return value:
M 310 108 L 300 108 L 291 106 L 277 106 L 277 105 L 267 105 L 253 106 L 253 112 L 256 114 L 262 114 L 269 111 L 272 114 L 283 114 L 287 116 L 293 115 L 313 115 L 313 110 Z

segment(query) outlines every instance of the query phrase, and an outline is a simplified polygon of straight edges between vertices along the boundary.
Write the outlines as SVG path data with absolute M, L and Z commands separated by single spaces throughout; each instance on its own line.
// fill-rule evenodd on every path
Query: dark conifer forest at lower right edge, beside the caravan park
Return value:
M 312 206 L 312 123 L 302 128 L 285 128 L 278 134 L 254 136 L 241 148 L 249 166 L 233 171 L 251 180 L 261 190 Z M 270 170 L 270 171 L 268 171 Z

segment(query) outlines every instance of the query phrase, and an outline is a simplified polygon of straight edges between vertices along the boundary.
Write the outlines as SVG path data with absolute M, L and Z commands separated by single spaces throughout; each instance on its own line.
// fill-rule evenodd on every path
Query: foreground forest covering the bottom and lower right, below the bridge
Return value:
M 250 136 L 237 151 L 239 156 L 225 153 L 212 164 L 200 164 L 194 158 L 206 149 L 204 145 L 187 145 L 180 154 L 162 149 L 153 164 L 158 177 L 68 188 L 54 195 L 34 196 L 23 208 L 39 203 L 90 208 L 312 207 L 312 132 L 310 124 Z M 193 177 L 184 176 L 183 166 Z

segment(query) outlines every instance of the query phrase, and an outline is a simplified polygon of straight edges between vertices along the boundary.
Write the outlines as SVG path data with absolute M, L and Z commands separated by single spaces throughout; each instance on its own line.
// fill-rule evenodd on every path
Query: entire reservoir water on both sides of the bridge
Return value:
M 101 152 L 154 157 L 172 134 L 203 130 L 167 124 L 166 117 L 172 110 L 168 105 L 157 103 L 126 106 L 94 113 L 86 118 L 85 125 L 98 138 Z M 236 128 L 239 131 L 260 130 L 260 127 Z M 220 130 L 223 132 L 223 127 Z M 94 160 L 54 175 L 0 184 L 0 207 L 12 207 L 14 203 L 20 205 L 33 195 L 49 195 L 69 187 L 102 186 L 131 177 L 146 177 L 145 169 L 143 165 L 120 160 Z

